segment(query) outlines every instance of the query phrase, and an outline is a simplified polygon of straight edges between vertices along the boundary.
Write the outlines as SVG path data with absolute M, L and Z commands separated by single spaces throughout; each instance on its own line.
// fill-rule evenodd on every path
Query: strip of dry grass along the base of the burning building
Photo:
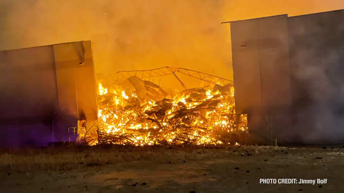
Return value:
M 69 146 L 55 148 L 0 149 L 0 170 L 41 172 L 82 169 L 134 161 L 178 163 L 237 154 L 257 154 L 286 147 L 271 146 Z

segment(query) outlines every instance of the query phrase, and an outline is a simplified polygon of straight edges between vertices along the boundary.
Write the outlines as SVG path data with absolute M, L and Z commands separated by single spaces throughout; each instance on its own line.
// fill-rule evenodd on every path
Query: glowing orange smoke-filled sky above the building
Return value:
M 221 22 L 343 8 L 341 0 L 0 0 L 0 50 L 91 40 L 100 76 L 177 66 L 232 79 Z

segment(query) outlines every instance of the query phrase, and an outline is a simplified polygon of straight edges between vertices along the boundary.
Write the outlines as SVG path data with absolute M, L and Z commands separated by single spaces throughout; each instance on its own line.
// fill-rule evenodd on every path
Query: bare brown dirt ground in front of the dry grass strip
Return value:
M 343 148 L 257 148 L 225 147 L 212 150 L 221 156 L 196 159 L 173 151 L 171 161 L 133 160 L 68 171 L 20 172 L 3 165 L 0 192 L 344 192 Z M 263 178 L 297 179 L 297 184 L 262 184 Z M 301 178 L 327 183 L 299 184 Z

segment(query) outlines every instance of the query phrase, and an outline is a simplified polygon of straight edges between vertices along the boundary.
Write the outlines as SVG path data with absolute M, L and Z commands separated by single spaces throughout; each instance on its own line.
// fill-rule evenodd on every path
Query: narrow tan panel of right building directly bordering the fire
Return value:
M 235 112 L 247 113 L 248 123 L 261 120 L 261 82 L 257 20 L 230 24 Z

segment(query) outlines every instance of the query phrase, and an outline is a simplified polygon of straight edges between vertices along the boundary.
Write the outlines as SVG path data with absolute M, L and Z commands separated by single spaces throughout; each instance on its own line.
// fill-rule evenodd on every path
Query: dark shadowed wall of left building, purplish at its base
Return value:
M 0 52 L 0 146 L 52 141 L 57 98 L 52 47 Z

